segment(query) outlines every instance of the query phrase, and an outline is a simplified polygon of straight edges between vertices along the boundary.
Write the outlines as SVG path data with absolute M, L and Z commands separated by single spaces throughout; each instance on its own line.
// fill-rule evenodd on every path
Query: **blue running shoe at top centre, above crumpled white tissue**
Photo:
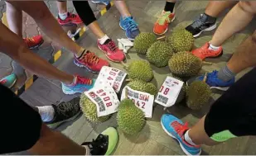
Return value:
M 120 17 L 119 26 L 125 31 L 125 35 L 129 40 L 134 40 L 139 34 L 138 23 L 133 17 Z

